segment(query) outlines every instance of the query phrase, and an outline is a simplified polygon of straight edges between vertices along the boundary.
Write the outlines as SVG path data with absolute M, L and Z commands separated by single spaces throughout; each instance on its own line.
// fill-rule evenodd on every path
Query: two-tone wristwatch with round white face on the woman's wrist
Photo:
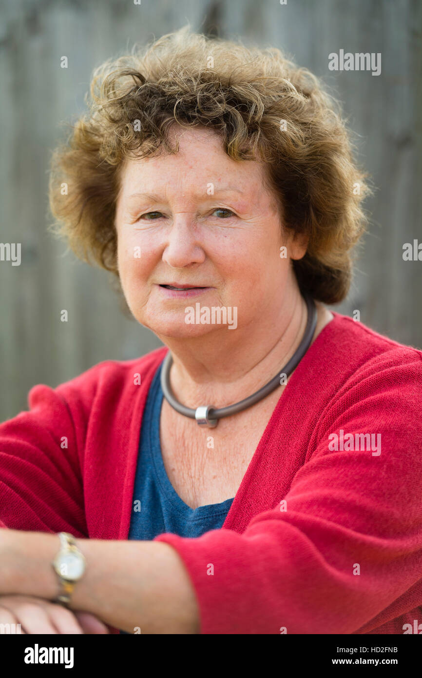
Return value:
M 58 537 L 60 538 L 61 548 L 51 563 L 60 582 L 60 593 L 55 602 L 68 607 L 75 584 L 85 572 L 85 558 L 79 551 L 75 538 L 71 534 L 58 532 Z

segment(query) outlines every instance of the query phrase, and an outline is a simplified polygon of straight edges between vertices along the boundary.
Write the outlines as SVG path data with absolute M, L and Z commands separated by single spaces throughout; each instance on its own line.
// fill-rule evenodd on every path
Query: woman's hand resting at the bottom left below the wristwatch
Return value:
M 57 603 L 26 595 L 0 596 L 0 624 L 20 624 L 20 629 L 11 627 L 11 632 L 19 634 L 108 633 L 105 624 L 89 612 L 72 612 Z

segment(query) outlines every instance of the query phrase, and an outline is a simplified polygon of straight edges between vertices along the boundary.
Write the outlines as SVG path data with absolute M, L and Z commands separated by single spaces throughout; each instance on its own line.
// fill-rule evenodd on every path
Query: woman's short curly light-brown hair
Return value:
M 308 236 L 293 261 L 300 289 L 345 298 L 352 248 L 366 231 L 372 193 L 354 161 L 339 102 L 280 49 L 246 47 L 184 26 L 95 69 L 88 111 L 51 157 L 56 233 L 83 260 L 119 277 L 115 205 L 127 158 L 177 153 L 169 128 L 213 129 L 234 160 L 262 161 L 284 228 Z M 63 186 L 66 186 L 63 189 Z

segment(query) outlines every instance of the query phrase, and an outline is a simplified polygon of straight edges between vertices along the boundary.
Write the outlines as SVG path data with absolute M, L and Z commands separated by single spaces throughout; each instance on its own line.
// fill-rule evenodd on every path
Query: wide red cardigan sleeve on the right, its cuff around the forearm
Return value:
M 360 633 L 401 596 L 404 611 L 422 605 L 422 363 L 409 353 L 324 408 L 284 506 L 242 534 L 155 538 L 186 566 L 201 633 Z M 341 429 L 379 450 L 335 450 Z

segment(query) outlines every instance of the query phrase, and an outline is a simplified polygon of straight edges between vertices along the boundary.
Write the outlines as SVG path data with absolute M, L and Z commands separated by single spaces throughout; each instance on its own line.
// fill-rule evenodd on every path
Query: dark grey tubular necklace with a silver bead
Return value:
M 185 405 L 182 405 L 182 403 L 179 403 L 171 391 L 170 368 L 173 363 L 173 358 L 171 357 L 171 353 L 169 351 L 163 360 L 163 367 L 161 369 L 161 388 L 163 389 L 164 397 L 169 405 L 171 405 L 171 407 L 173 407 L 176 412 L 179 412 L 186 417 L 190 417 L 190 419 L 196 419 L 196 422 L 199 424 L 199 426 L 208 426 L 209 428 L 214 428 L 217 426 L 219 419 L 228 417 L 231 414 L 242 412 L 242 410 L 246 410 L 247 407 L 255 405 L 255 403 L 257 403 L 259 400 L 262 400 L 267 395 L 272 393 L 272 391 L 274 391 L 277 386 L 280 386 L 280 374 L 285 374 L 287 378 L 293 372 L 293 370 L 295 370 L 297 365 L 299 365 L 299 362 L 305 355 L 306 351 L 308 351 L 308 348 L 312 342 L 312 337 L 314 336 L 317 315 L 315 302 L 308 294 L 303 296 L 308 309 L 308 321 L 306 323 L 303 338 L 297 347 L 297 351 L 295 351 L 287 365 L 284 365 L 280 373 L 276 374 L 276 376 L 272 378 L 268 384 L 262 386 L 262 388 L 259 388 L 259 391 L 255 391 L 255 393 L 249 397 L 240 400 L 238 403 L 234 403 L 233 405 L 228 405 L 228 407 L 220 407 L 219 409 L 215 409 L 213 405 L 200 405 L 200 407 L 196 407 L 196 410 L 194 410 L 192 407 L 186 407 Z

